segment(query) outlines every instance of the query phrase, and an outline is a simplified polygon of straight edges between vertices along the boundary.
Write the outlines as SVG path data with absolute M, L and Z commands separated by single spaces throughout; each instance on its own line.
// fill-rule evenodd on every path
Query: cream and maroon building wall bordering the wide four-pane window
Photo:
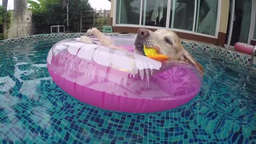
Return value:
M 123 32 L 126 31 L 128 33 L 137 33 L 138 27 L 117 27 L 113 25 L 113 17 L 114 13 L 114 1 L 111 1 L 111 12 L 110 12 L 110 25 L 113 26 L 114 32 Z M 229 0 L 221 0 L 221 8 L 220 8 L 220 23 L 218 30 L 218 38 L 211 38 L 201 35 L 181 33 L 179 31 L 175 31 L 180 38 L 191 39 L 194 41 L 217 44 L 224 46 L 226 40 L 227 33 L 227 25 L 228 25 L 228 14 L 229 14 Z M 143 26 L 142 26 L 143 27 Z M 151 29 L 156 30 L 156 29 Z

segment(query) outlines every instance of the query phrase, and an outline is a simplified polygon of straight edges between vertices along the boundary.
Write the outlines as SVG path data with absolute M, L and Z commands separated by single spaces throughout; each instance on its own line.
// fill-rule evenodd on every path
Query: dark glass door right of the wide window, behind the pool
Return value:
M 236 42 L 248 43 L 251 27 L 252 1 L 232 0 L 230 1 L 230 6 L 231 17 L 227 47 L 230 45 L 234 46 Z

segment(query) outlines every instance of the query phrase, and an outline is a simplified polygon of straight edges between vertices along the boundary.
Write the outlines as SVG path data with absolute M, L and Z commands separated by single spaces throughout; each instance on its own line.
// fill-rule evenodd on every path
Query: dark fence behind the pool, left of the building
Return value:
M 110 24 L 110 11 L 83 11 L 80 17 L 80 32 L 96 27 L 102 31 L 103 26 Z

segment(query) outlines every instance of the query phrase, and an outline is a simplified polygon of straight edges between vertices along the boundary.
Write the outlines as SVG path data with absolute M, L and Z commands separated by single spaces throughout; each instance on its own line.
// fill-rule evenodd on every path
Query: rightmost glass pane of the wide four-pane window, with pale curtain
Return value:
M 201 0 L 197 4 L 196 32 L 215 35 L 218 15 L 218 0 Z

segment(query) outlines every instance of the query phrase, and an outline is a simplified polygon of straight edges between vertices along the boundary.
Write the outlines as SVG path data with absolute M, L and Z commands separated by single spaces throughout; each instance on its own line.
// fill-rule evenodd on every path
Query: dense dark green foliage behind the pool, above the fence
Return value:
M 67 10 L 62 9 L 63 0 L 28 0 L 33 14 L 33 23 L 39 30 L 47 30 L 54 25 L 66 25 Z M 88 0 L 69 1 L 69 21 L 79 21 L 81 11 L 93 10 Z M 65 23 L 65 24 L 64 24 Z

